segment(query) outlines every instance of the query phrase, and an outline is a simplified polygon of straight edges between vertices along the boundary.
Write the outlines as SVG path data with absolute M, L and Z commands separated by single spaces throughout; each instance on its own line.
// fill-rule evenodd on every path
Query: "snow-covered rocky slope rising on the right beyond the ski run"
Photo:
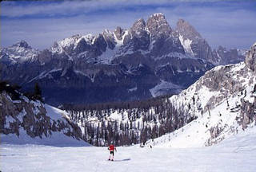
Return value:
M 219 79 L 221 77 L 224 80 Z M 220 85 L 214 88 L 214 84 Z M 253 104 L 256 96 L 254 84 L 256 76 L 244 62 L 213 68 L 190 88 L 170 97 L 175 106 L 183 107 L 197 119 L 147 144 L 157 147 L 204 147 L 241 132 L 246 127 L 241 121 L 244 120 L 243 102 Z M 254 126 L 255 121 L 246 124 Z

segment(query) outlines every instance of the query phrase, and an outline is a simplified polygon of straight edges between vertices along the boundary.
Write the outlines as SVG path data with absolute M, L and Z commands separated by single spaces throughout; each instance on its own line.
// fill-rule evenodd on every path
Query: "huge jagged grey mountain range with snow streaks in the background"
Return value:
M 164 14 L 152 14 L 130 29 L 74 35 L 41 52 L 25 41 L 1 49 L 1 79 L 26 90 L 38 82 L 54 105 L 143 100 L 177 94 L 222 58 L 240 61 L 226 54 L 214 56 L 188 22 L 172 29 Z

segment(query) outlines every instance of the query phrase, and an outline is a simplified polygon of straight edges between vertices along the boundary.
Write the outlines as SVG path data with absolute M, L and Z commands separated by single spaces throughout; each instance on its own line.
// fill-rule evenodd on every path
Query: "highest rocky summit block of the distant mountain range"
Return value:
M 159 34 L 170 35 L 172 32 L 164 14 L 152 14 L 146 21 L 146 26 L 153 37 Z

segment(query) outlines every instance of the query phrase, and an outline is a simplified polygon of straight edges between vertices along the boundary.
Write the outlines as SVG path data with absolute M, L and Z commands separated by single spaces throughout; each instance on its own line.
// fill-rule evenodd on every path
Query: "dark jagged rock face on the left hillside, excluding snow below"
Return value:
M 31 138 L 50 137 L 53 132 L 62 132 L 75 139 L 82 139 L 82 131 L 70 119 L 51 119 L 47 115 L 45 105 L 39 101 L 28 100 L 21 96 L 20 100 L 12 100 L 8 93 L 0 93 L 0 132 L 20 135 L 23 129 Z M 54 117 L 57 118 L 57 117 Z

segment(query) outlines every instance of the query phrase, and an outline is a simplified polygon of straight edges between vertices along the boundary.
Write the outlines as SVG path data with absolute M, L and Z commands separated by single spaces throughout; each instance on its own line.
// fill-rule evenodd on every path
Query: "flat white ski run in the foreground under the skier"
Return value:
M 106 147 L 2 144 L 2 171 L 232 171 L 256 169 L 256 127 L 214 147 L 118 147 L 109 162 Z

